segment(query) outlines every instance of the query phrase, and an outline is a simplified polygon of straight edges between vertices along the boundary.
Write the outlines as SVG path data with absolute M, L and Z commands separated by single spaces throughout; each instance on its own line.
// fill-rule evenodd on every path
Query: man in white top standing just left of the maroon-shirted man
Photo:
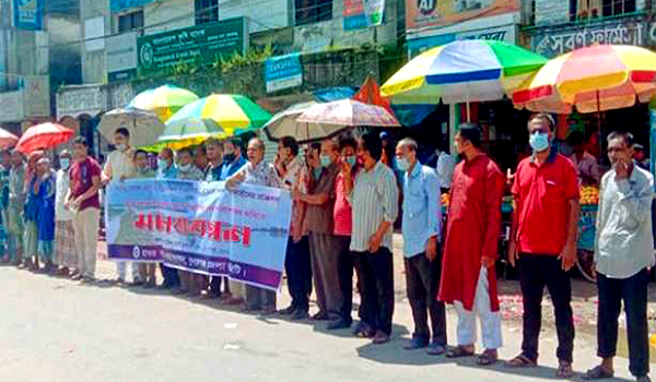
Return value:
M 59 154 L 59 166 L 55 183 L 55 262 L 59 265 L 59 275 L 69 276 L 78 267 L 78 251 L 75 250 L 73 213 L 65 207 L 71 168 L 71 154 L 68 150 Z

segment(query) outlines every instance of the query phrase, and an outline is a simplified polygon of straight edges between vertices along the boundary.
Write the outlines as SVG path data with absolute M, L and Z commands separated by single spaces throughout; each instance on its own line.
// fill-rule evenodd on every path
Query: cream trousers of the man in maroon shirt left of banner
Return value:
M 94 277 L 98 247 L 101 210 L 84 208 L 73 215 L 73 230 L 78 247 L 78 270 L 84 277 Z

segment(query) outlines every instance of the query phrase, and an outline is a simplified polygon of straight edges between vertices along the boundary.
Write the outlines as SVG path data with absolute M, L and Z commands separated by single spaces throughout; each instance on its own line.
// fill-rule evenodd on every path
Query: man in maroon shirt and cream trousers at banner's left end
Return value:
M 79 274 L 75 278 L 90 282 L 95 274 L 101 218 L 98 190 L 103 169 L 94 158 L 89 156 L 89 146 L 83 136 L 78 136 L 73 141 L 73 158 L 65 207 L 73 212 L 79 264 Z

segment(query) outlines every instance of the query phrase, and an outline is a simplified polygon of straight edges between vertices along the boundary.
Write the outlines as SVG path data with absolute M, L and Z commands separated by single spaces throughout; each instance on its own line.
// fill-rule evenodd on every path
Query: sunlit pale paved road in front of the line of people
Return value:
M 284 296 L 281 297 L 284 299 Z M 284 305 L 286 301 L 281 301 Z M 449 312 L 449 335 L 455 338 Z M 155 291 L 82 286 L 0 267 L 0 381 L 540 381 L 551 379 L 554 335 L 543 333 L 544 367 L 482 369 L 400 347 L 411 327 L 399 301 L 394 341 L 373 346 L 323 325 L 245 315 Z M 504 323 L 508 358 L 517 323 Z M 577 333 L 576 367 L 594 359 L 594 337 Z M 620 375 L 629 377 L 625 360 Z

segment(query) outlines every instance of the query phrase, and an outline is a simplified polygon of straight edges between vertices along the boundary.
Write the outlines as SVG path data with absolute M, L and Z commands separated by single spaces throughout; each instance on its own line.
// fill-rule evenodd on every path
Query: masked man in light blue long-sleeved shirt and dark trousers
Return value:
M 440 181 L 435 170 L 419 163 L 417 150 L 417 142 L 410 138 L 401 140 L 396 148 L 396 164 L 403 171 L 403 254 L 414 320 L 412 339 L 405 348 L 429 347 L 429 354 L 438 356 L 446 351 L 446 311 L 444 302 L 435 299 L 440 286 Z

